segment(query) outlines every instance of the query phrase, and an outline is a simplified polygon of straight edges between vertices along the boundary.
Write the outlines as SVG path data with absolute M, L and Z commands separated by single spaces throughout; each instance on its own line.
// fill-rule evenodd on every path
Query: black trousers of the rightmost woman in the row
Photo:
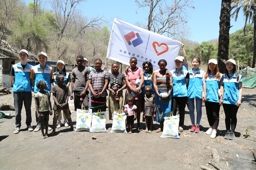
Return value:
M 226 124 L 226 130 L 230 131 L 230 125 L 231 125 L 231 131 L 234 132 L 237 126 L 237 111 L 238 108 L 234 104 L 225 104 L 223 103 L 223 109 L 225 112 L 225 124 Z

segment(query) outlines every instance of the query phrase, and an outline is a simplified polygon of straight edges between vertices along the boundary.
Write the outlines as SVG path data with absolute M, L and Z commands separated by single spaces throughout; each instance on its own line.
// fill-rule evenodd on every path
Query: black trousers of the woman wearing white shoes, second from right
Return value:
M 205 102 L 206 114 L 210 126 L 213 129 L 218 129 L 219 126 L 219 109 L 220 105 L 217 102 Z

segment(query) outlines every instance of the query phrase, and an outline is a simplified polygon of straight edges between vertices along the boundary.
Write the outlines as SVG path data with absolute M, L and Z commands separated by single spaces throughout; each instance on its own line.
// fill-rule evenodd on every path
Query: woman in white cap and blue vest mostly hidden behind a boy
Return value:
M 56 75 L 61 74 L 64 76 L 64 84 L 66 84 L 69 87 L 71 78 L 70 78 L 70 74 L 68 72 L 66 72 L 65 63 L 62 60 L 59 60 L 56 65 L 57 65 L 56 72 L 53 73 L 53 79 L 54 79 L 53 86 L 55 84 L 58 84 L 57 80 L 55 79 Z M 65 127 L 68 127 L 68 121 L 65 117 L 65 114 L 63 114 L 63 117 L 64 117 L 64 125 L 65 125 Z M 61 127 L 61 121 L 60 121 L 61 119 L 62 119 L 62 116 L 60 114 L 59 120 L 57 123 L 57 128 Z

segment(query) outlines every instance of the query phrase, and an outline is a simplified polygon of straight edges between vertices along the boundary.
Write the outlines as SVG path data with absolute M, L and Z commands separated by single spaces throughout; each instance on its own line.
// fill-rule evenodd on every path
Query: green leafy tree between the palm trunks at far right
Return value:
M 230 34 L 230 52 L 234 60 L 246 67 L 252 65 L 253 58 L 253 25 L 246 24 L 245 35 L 244 28 Z

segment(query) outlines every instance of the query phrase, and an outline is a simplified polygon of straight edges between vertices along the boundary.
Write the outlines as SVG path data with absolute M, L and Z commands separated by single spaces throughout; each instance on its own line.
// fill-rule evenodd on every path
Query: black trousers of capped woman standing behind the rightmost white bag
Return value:
M 177 106 L 179 107 L 179 114 L 180 114 L 180 123 L 179 126 L 184 125 L 184 119 L 185 119 L 185 107 L 187 103 L 188 97 L 173 97 L 172 98 L 172 112 L 173 115 L 176 116 L 177 114 Z

